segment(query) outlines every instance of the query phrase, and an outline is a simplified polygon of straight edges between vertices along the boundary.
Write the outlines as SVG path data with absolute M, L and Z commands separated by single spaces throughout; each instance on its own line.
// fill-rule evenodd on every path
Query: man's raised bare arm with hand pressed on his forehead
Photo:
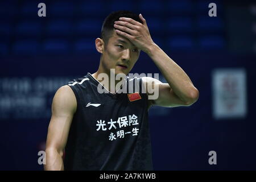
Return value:
M 173 107 L 192 105 L 199 98 L 199 90 L 193 85 L 187 73 L 153 42 L 146 19 L 143 18 L 142 14 L 139 14 L 139 18 L 141 18 L 142 23 L 131 18 L 119 18 L 115 22 L 115 31 L 118 35 L 129 39 L 138 49 L 146 52 L 168 82 L 168 84 L 163 84 L 155 80 L 153 83 L 150 83 L 158 86 L 159 97 L 151 100 L 149 106 Z M 147 84 L 150 80 L 152 79 L 143 78 L 143 83 Z

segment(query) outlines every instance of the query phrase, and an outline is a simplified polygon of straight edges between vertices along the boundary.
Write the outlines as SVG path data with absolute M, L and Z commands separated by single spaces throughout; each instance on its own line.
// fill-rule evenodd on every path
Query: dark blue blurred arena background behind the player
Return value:
M 39 17 L 39 3 L 46 16 Z M 209 16 L 216 3 L 217 16 Z M 151 37 L 191 78 L 199 100 L 150 109 L 155 170 L 255 170 L 255 1 L 1 1 L 0 169 L 43 170 L 56 90 L 97 71 L 105 17 L 142 13 Z M 146 65 L 146 66 L 145 66 Z M 141 52 L 131 73 L 160 73 Z M 165 81 L 160 75 L 160 80 Z M 217 164 L 209 164 L 215 151 Z

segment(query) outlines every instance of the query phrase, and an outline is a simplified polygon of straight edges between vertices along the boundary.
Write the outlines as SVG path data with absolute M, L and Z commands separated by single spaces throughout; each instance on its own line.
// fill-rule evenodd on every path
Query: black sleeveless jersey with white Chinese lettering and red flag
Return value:
M 133 82 L 133 84 L 131 84 Z M 153 170 L 148 97 L 142 79 L 121 86 L 134 93 L 99 93 L 90 73 L 68 82 L 77 110 L 65 146 L 65 170 Z M 135 92 L 135 91 L 139 92 Z

